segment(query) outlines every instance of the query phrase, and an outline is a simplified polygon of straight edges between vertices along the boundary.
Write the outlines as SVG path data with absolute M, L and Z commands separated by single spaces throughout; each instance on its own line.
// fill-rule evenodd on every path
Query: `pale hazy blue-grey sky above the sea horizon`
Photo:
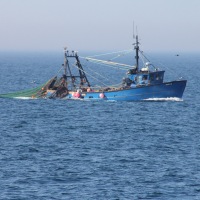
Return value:
M 0 51 L 200 52 L 200 0 L 0 0 Z

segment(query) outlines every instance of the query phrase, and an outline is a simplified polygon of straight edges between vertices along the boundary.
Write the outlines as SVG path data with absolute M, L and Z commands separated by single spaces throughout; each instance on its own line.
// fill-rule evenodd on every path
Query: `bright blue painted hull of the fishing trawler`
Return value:
M 156 85 L 140 86 L 136 88 L 82 93 L 85 100 L 113 100 L 113 101 L 140 101 L 151 98 L 182 98 L 186 87 L 186 80 L 165 82 Z M 103 94 L 103 97 L 102 97 Z M 77 99 L 68 95 L 67 99 Z

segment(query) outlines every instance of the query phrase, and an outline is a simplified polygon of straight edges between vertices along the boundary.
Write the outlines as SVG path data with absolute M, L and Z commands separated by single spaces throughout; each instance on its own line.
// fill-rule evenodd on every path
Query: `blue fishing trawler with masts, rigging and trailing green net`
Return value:
M 53 77 L 42 87 L 22 93 L 15 93 L 11 96 L 23 96 L 31 98 L 61 98 L 70 100 L 111 100 L 111 101 L 141 101 L 148 99 L 181 99 L 186 87 L 187 80 L 178 79 L 164 82 L 164 70 L 155 67 L 144 56 L 139 48 L 138 36 L 134 43 L 135 64 L 127 65 L 113 62 L 111 60 L 99 60 L 94 57 L 85 57 L 88 62 L 101 63 L 104 65 L 117 66 L 126 69 L 125 77 L 121 79 L 118 86 L 97 86 L 92 85 L 88 79 L 88 73 L 80 62 L 78 52 L 69 52 L 64 48 L 63 74 L 61 77 Z M 140 54 L 148 62 L 140 66 Z M 70 64 L 74 59 L 74 64 Z M 75 74 L 74 68 L 77 73 Z M 112 77 L 110 77 L 111 79 Z M 17 94 L 17 95 L 16 95 Z M 0 95 L 0 97 L 9 97 Z

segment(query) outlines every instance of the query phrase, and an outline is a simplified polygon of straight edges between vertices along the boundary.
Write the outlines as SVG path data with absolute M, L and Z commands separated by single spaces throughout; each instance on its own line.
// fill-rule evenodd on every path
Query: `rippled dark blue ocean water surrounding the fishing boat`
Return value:
M 0 98 L 0 199 L 200 199 L 200 54 L 151 56 L 165 80 L 188 80 L 183 100 Z M 1 52 L 0 94 L 44 83 L 62 63 L 62 51 Z

